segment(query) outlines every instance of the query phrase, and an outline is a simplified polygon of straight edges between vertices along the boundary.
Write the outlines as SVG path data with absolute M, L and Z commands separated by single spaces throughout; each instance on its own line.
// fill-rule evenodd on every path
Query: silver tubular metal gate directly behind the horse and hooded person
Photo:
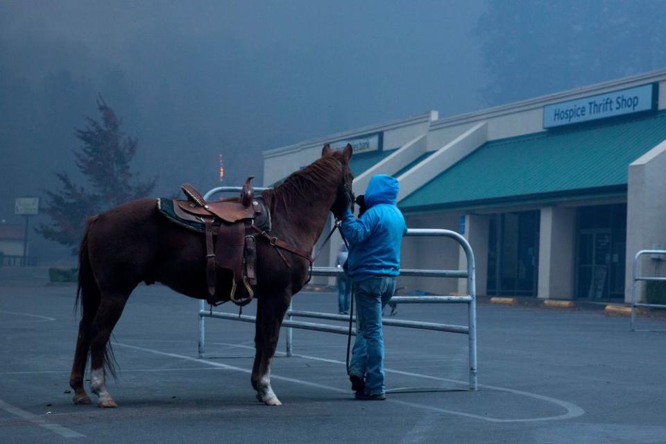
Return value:
M 255 191 L 264 191 L 266 188 L 255 188 Z M 211 196 L 221 192 L 240 191 L 241 187 L 216 187 L 208 191 L 204 198 L 210 199 Z M 429 323 L 421 321 L 398 321 L 395 319 L 383 319 L 382 325 L 394 327 L 416 328 L 420 330 L 435 330 L 439 332 L 451 332 L 467 334 L 469 341 L 469 377 L 470 377 L 470 390 L 477 390 L 477 301 L 476 301 L 476 281 L 475 281 L 475 262 L 474 253 L 472 248 L 461 234 L 451 230 L 441 229 L 411 229 L 407 230 L 408 237 L 448 237 L 454 239 L 463 248 L 467 258 L 466 270 L 416 270 L 416 269 L 400 269 L 402 276 L 421 276 L 421 277 L 436 277 L 436 278 L 456 278 L 467 280 L 467 294 L 463 296 L 393 296 L 391 302 L 398 302 L 400 304 L 466 304 L 468 305 L 468 325 L 449 325 L 441 323 Z M 343 271 L 334 267 L 313 267 L 312 275 L 317 276 L 336 276 L 343 274 Z M 205 302 L 200 300 L 198 302 L 198 316 L 199 316 L 199 343 L 198 343 L 198 357 L 203 358 L 205 355 L 205 318 L 220 318 L 228 319 L 230 321 L 241 322 L 255 322 L 255 316 L 237 315 L 231 313 L 223 313 L 221 311 L 214 311 L 212 309 L 205 309 Z M 317 311 L 298 311 L 293 309 L 292 305 L 285 315 L 282 327 L 287 327 L 287 356 L 293 355 L 293 329 L 300 328 L 303 330 L 315 330 L 318 332 L 328 332 L 337 334 L 348 334 L 348 327 L 341 327 L 339 325 L 330 325 L 325 323 L 311 323 L 294 321 L 294 317 L 302 318 L 318 318 L 328 319 L 334 321 L 349 321 L 349 316 L 341 314 L 321 313 Z M 352 334 L 356 334 L 356 330 L 352 329 Z

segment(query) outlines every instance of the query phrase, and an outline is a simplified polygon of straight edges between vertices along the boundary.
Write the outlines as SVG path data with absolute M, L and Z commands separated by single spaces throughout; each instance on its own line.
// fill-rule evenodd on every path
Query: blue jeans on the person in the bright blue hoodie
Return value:
M 382 309 L 394 292 L 393 276 L 377 276 L 355 282 L 357 333 L 349 373 L 365 377 L 366 394 L 378 395 L 385 391 Z

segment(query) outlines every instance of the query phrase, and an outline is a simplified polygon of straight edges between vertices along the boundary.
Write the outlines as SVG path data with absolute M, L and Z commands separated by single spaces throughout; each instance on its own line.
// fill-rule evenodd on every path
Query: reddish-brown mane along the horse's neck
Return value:
M 341 168 L 342 164 L 336 153 L 320 157 L 304 169 L 291 173 L 277 187 L 264 191 L 262 196 L 271 213 L 275 212 L 276 207 L 289 209 L 294 201 L 302 201 L 303 198 L 311 196 L 313 189 L 321 189 L 325 185 L 337 187 Z

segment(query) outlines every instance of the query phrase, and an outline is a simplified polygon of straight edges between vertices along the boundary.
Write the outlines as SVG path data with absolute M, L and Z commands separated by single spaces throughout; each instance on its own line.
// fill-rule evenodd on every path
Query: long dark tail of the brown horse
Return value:
M 88 251 L 88 234 L 90 227 L 97 220 L 99 216 L 92 216 L 88 219 L 85 225 L 85 233 L 81 240 L 81 245 L 78 250 L 78 287 L 76 289 L 76 300 L 74 301 L 74 309 L 80 307 L 81 321 L 83 321 L 85 331 L 83 334 L 94 334 L 92 331 L 92 321 L 95 318 L 99 303 L 101 300 L 101 291 L 95 280 L 94 273 L 92 272 L 92 265 L 90 264 L 90 256 Z M 89 353 L 89 350 L 87 350 Z M 111 348 L 111 341 L 106 343 L 106 350 L 104 352 L 104 368 L 112 375 L 116 376 L 115 370 L 116 359 L 113 355 Z

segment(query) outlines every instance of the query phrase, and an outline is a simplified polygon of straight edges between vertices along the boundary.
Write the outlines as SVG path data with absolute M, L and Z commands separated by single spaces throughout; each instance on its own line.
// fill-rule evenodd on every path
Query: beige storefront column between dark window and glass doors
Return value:
M 576 209 L 541 209 L 539 232 L 538 297 L 574 298 Z

